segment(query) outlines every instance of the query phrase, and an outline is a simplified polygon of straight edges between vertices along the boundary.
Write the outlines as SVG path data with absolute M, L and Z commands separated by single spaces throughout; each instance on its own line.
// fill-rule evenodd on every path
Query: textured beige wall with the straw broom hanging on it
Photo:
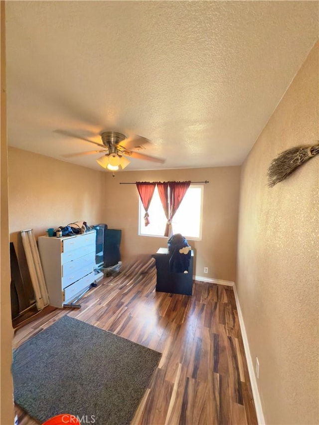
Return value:
M 266 424 L 319 423 L 319 156 L 273 188 L 273 158 L 316 144 L 318 44 L 242 167 L 236 285 Z

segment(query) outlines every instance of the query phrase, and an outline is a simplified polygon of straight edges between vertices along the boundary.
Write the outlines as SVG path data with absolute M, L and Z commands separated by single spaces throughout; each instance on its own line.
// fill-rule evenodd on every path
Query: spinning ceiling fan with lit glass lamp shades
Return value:
M 94 143 L 100 147 L 97 150 L 91 150 L 89 152 L 80 152 L 66 156 L 76 155 L 89 155 L 92 153 L 103 152 L 103 156 L 98 158 L 96 161 L 101 167 L 107 168 L 111 171 L 116 171 L 120 167 L 124 169 L 131 162 L 127 157 L 143 159 L 146 161 L 164 163 L 165 159 L 157 158 L 154 156 L 145 155 L 144 153 L 137 152 L 135 150 L 145 149 L 147 144 L 151 142 L 141 136 L 135 139 L 127 138 L 124 134 L 118 132 L 103 132 L 101 133 L 102 143 L 93 142 L 89 139 L 74 135 L 73 133 L 64 130 L 55 130 L 55 133 L 62 134 L 63 136 L 69 136 L 77 139 L 84 140 L 86 142 Z

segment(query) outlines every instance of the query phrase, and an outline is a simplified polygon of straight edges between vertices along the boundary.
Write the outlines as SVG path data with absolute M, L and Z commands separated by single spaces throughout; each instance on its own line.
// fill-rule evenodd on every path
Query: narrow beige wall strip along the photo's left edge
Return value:
M 11 378 L 12 336 L 10 302 L 10 258 L 8 223 L 8 181 L 6 145 L 5 16 L 0 2 L 1 20 L 1 111 L 0 111 L 0 424 L 13 424 L 13 388 Z

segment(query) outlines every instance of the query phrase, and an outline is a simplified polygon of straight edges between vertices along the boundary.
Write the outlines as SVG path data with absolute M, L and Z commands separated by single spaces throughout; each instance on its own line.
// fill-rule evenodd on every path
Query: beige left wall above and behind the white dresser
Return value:
M 20 231 L 37 238 L 49 227 L 103 220 L 104 173 L 25 150 L 8 148 L 10 241 L 23 280 L 29 274 Z

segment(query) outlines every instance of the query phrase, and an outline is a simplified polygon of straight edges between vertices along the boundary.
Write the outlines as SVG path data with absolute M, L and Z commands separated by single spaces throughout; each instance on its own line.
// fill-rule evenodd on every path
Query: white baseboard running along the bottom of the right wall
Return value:
M 253 392 L 253 398 L 254 398 L 254 403 L 255 403 L 257 420 L 258 420 L 259 425 L 264 425 L 265 424 L 265 418 L 264 418 L 263 410 L 262 410 L 262 407 L 261 407 L 261 401 L 260 401 L 259 392 L 258 392 L 258 386 L 257 386 L 257 381 L 256 381 L 256 376 L 255 376 L 254 364 L 253 364 L 253 361 L 252 361 L 252 358 L 251 358 L 251 355 L 250 355 L 250 349 L 249 349 L 249 344 L 248 344 L 246 328 L 245 328 L 244 319 L 243 319 L 243 315 L 242 315 L 242 312 L 241 312 L 238 293 L 237 293 L 237 289 L 236 289 L 235 284 L 233 285 L 233 288 L 234 288 L 235 300 L 236 300 L 236 305 L 237 305 L 237 313 L 238 313 L 240 330 L 241 330 L 241 334 L 242 334 L 242 337 L 243 337 L 245 355 L 246 355 L 246 360 L 247 360 L 250 384 L 251 384 L 251 388 L 252 388 L 252 392 Z

